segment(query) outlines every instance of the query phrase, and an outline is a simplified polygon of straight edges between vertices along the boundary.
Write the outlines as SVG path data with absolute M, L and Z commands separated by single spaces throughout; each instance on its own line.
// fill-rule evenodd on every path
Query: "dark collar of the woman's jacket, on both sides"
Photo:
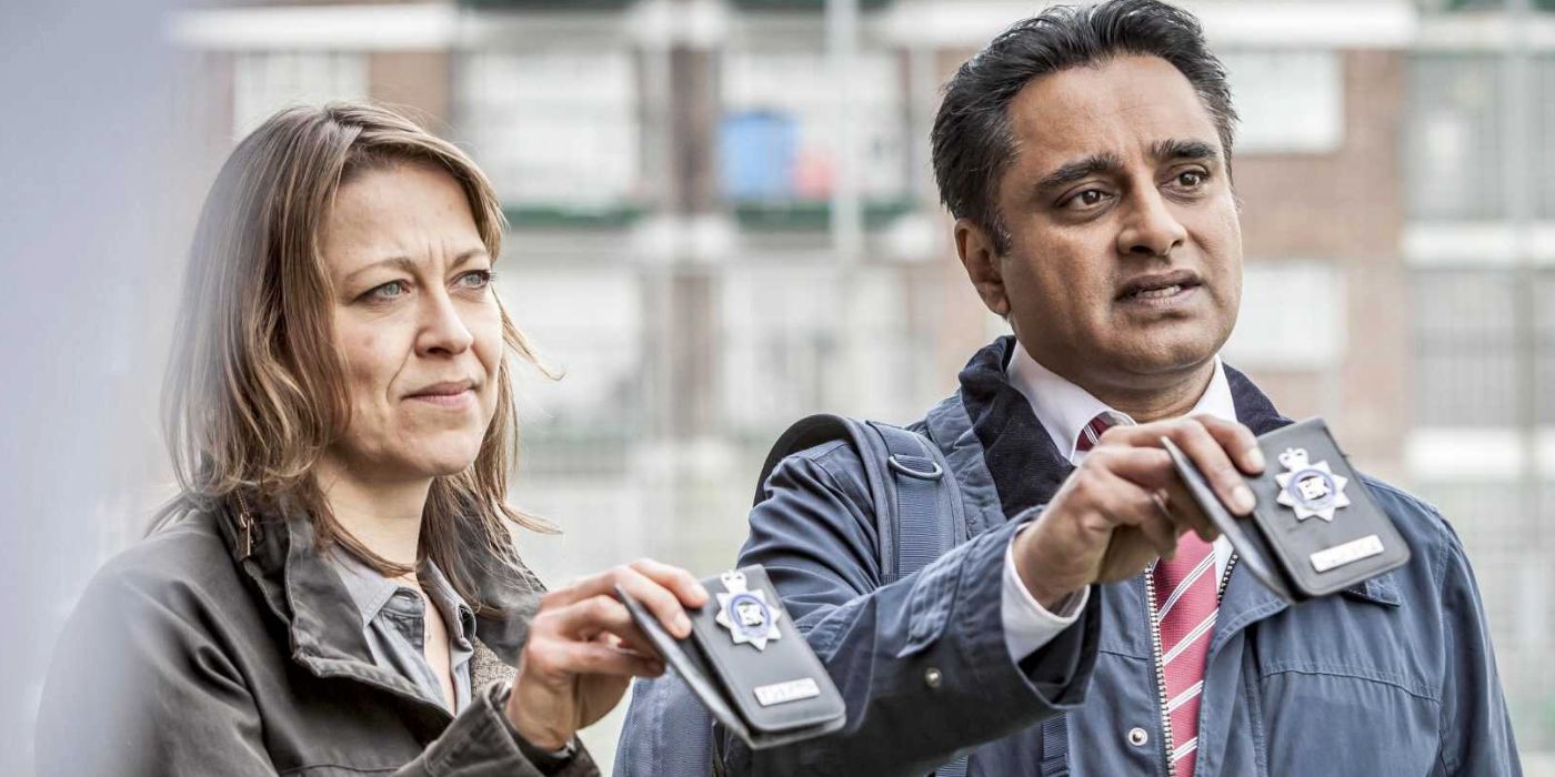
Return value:
M 271 612 L 286 623 L 292 659 L 320 676 L 381 674 L 375 679 L 395 687 L 404 684 L 414 693 L 409 682 L 373 667 L 361 614 L 331 559 L 314 542 L 308 514 L 288 500 L 253 513 L 252 552 L 246 556 L 239 553 L 243 528 L 236 505 L 229 502 L 215 517 L 243 575 Z M 476 533 L 473 527 L 462 524 L 460 531 L 463 547 L 485 547 L 470 536 Z M 488 556 L 476 552 L 471 558 L 470 577 L 485 605 L 476 614 L 476 637 L 505 664 L 516 665 L 544 589 L 516 555 L 508 559 Z

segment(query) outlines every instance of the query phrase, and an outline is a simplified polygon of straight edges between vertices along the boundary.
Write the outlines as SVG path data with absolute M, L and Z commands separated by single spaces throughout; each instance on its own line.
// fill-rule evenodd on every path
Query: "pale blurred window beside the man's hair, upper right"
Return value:
M 1230 51 L 1239 154 L 1323 154 L 1345 134 L 1344 59 L 1337 51 Z

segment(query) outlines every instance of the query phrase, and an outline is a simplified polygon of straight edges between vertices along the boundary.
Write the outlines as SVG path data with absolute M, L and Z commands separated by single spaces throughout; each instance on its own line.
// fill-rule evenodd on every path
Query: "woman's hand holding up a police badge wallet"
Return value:
M 616 600 L 620 586 L 675 637 L 690 634 L 686 608 L 708 601 L 689 572 L 642 559 L 552 591 L 540 600 L 507 716 L 530 744 L 557 751 L 597 721 L 627 692 L 631 678 L 656 678 L 664 662 Z

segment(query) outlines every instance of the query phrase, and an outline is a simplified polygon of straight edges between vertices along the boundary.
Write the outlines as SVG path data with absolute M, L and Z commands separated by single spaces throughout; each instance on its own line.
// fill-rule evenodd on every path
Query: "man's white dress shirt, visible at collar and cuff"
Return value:
M 1134 426 L 1135 423 L 1127 413 L 1107 407 L 1101 399 L 1092 396 L 1090 392 L 1037 364 L 1019 342 L 1015 343 L 1015 353 L 1009 359 L 1006 375 L 1009 376 L 1009 384 L 1031 402 L 1033 413 L 1036 413 L 1042 427 L 1047 429 L 1048 437 L 1053 438 L 1053 444 L 1073 465 L 1079 465 L 1085 457 L 1085 452 L 1079 451 L 1078 441 L 1081 430 L 1085 429 L 1085 424 L 1092 418 L 1107 413 L 1112 416 L 1115 426 Z M 1225 379 L 1225 367 L 1221 365 L 1219 356 L 1214 357 L 1214 375 L 1210 378 L 1210 385 L 1188 415 L 1213 415 L 1227 421 L 1236 420 L 1232 385 Z M 1216 538 L 1216 578 L 1225 575 L 1225 564 L 1230 558 L 1232 542 L 1224 536 Z M 1071 595 L 1057 612 L 1048 612 L 1020 581 L 1020 573 L 1015 572 L 1015 542 L 1011 541 L 1005 550 L 1005 584 L 1000 601 L 1000 617 L 1005 623 L 1005 646 L 1009 648 L 1009 657 L 1019 662 L 1051 642 L 1053 637 L 1075 623 L 1079 612 L 1085 609 L 1088 598 L 1090 587 L 1087 586 L 1079 594 Z

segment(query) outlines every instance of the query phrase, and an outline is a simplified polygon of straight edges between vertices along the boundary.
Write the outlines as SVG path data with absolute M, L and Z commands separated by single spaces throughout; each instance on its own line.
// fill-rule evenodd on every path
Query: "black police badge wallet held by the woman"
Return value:
M 841 729 L 843 698 L 760 564 L 701 581 L 711 600 L 675 639 L 620 587 L 616 595 L 666 662 L 723 726 L 753 749 Z

